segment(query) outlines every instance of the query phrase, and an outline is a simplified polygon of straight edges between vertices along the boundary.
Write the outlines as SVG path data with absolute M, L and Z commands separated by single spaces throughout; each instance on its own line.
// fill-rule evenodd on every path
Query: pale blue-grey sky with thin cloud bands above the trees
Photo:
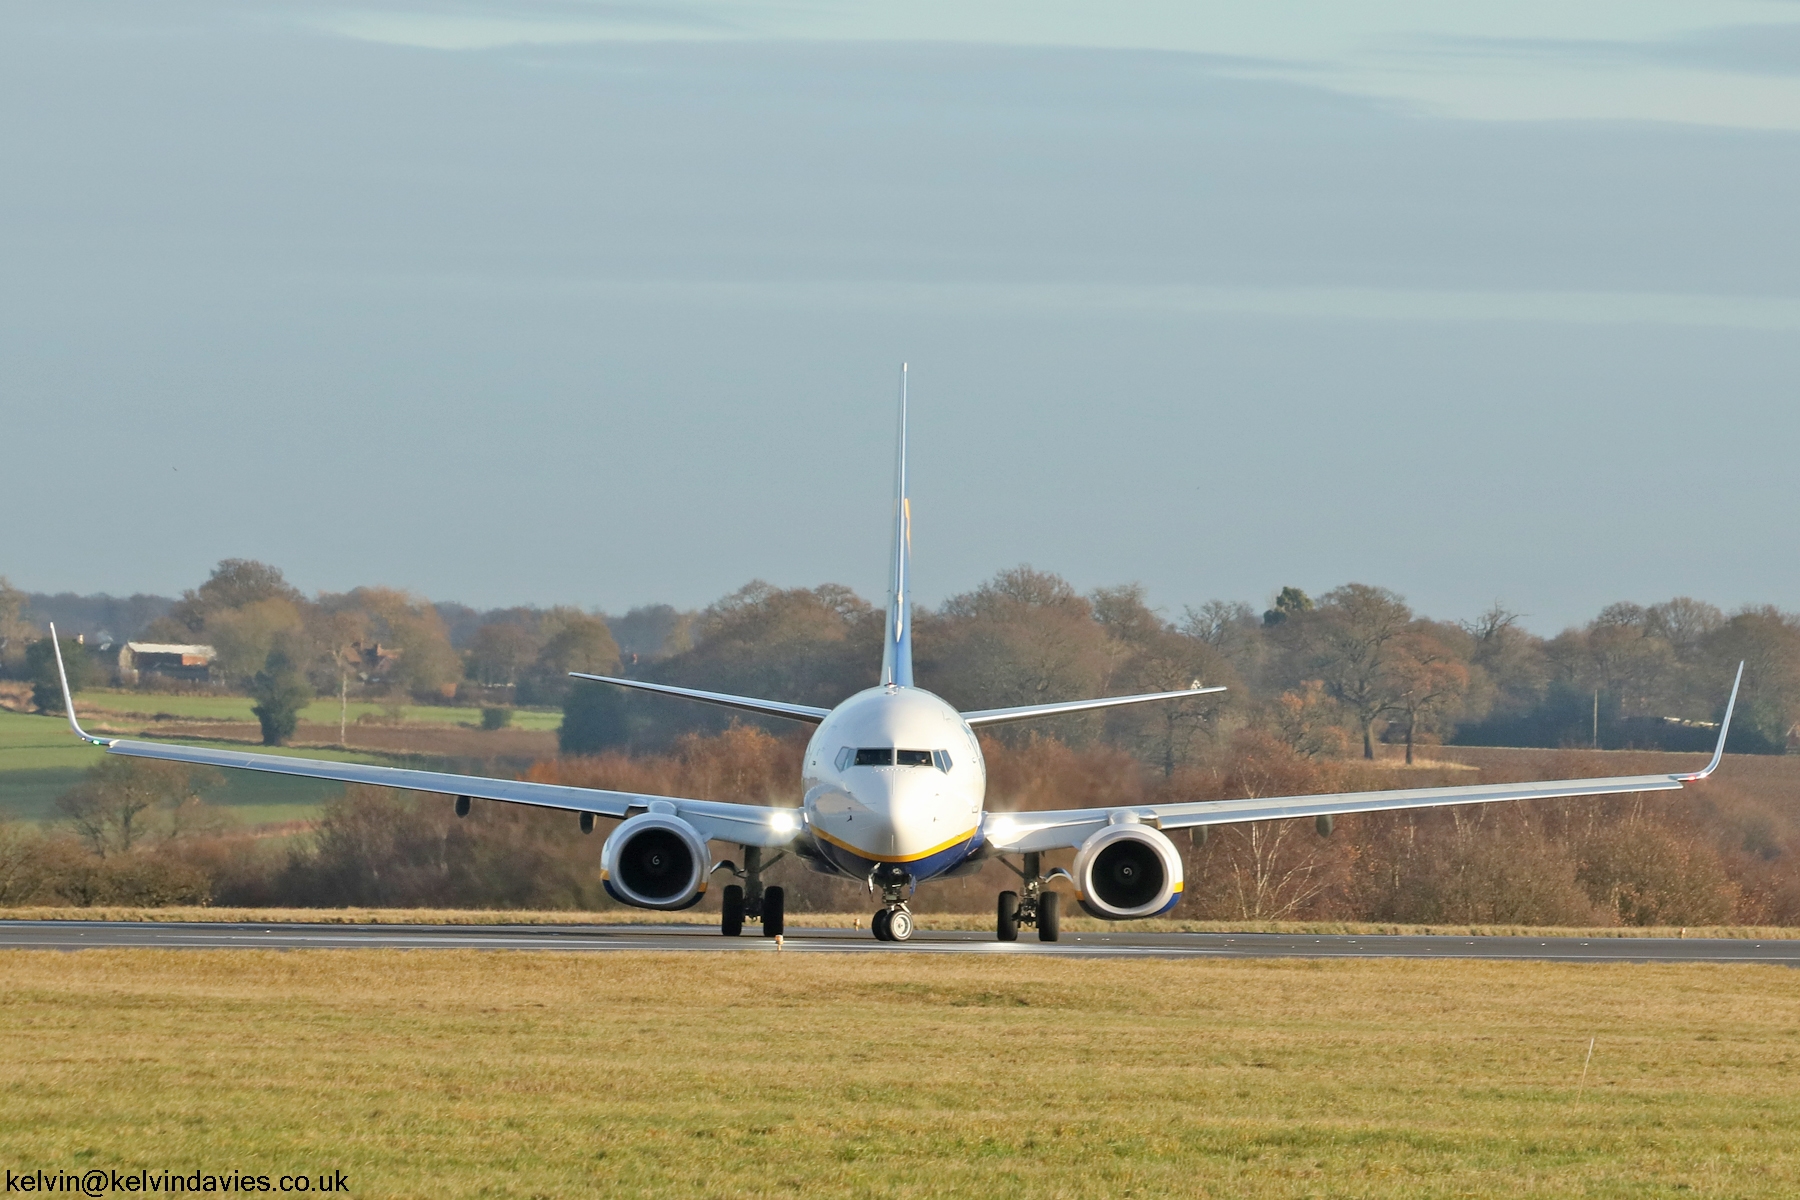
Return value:
M 1800 2 L 13 0 L 0 574 L 1800 608 Z

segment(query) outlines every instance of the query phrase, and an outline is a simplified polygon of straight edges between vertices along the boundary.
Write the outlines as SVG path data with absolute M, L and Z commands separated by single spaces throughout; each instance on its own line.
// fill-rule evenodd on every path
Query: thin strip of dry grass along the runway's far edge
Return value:
M 1069 903 L 1073 909 L 1073 901 Z M 648 912 L 643 909 L 608 909 L 605 912 L 518 912 L 508 909 L 450 910 L 450 909 L 0 909 L 0 919 L 11 921 L 214 921 L 270 925 L 716 925 L 716 912 Z M 790 912 L 794 928 L 868 928 L 868 912 Z M 918 916 L 922 930 L 985 930 L 994 918 L 985 912 L 925 912 Z M 1714 927 L 1660 927 L 1660 925 L 1598 925 L 1591 928 L 1562 928 L 1539 925 L 1393 925 L 1381 921 L 1096 921 L 1087 916 L 1064 916 L 1062 928 L 1076 934 L 1418 934 L 1451 937 L 1730 937 L 1742 941 L 1787 941 L 1800 937 L 1800 927 L 1786 925 L 1714 925 Z

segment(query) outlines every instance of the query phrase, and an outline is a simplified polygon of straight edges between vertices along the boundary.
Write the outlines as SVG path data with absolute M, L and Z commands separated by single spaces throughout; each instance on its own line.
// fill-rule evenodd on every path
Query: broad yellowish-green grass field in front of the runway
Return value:
M 358 1196 L 1791 1196 L 1796 1069 L 1778 968 L 0 954 L 7 1168 Z

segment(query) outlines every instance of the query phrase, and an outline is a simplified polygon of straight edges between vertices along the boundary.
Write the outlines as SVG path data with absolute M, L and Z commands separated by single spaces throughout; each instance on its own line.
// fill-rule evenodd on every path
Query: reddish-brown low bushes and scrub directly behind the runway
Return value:
M 1301 754 L 1238 729 L 1172 775 L 1129 750 L 1046 738 L 983 739 L 997 810 L 1204 801 L 1476 783 L 1499 777 L 1667 770 L 1660 757 L 1462 750 L 1481 763 L 1406 770 Z M 738 725 L 680 738 L 666 754 L 608 752 L 540 763 L 533 779 L 652 793 L 792 802 L 803 736 Z M 1498 756 L 1485 761 L 1483 756 Z M 1800 828 L 1780 775 L 1726 770 L 1701 790 L 1215 828 L 1177 837 L 1188 919 L 1355 919 L 1499 925 L 1800 923 Z M 103 759 L 59 801 L 59 820 L 0 824 L 0 905 L 608 909 L 571 813 L 349 788 L 306 829 L 245 831 L 198 797 L 212 772 Z M 1064 856 L 1066 858 L 1066 856 Z M 860 910 L 857 883 L 772 869 L 796 912 Z M 1012 876 L 920 889 L 922 912 L 988 912 Z M 702 910 L 709 910 L 707 901 Z

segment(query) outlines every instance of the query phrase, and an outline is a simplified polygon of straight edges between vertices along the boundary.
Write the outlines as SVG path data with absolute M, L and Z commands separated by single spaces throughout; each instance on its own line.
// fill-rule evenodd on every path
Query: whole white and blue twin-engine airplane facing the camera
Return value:
M 1712 761 L 1688 774 L 1120 804 L 1064 811 L 990 811 L 977 730 L 1046 716 L 1188 700 L 1224 687 L 1206 687 L 1195 680 L 1192 687 L 1175 691 L 974 712 L 959 712 L 940 696 L 918 687 L 913 682 L 913 504 L 907 486 L 905 380 L 902 365 L 887 610 L 880 676 L 873 687 L 824 709 L 571 671 L 574 678 L 590 685 L 684 696 L 700 703 L 815 725 L 806 743 L 797 804 L 695 801 L 97 738 L 83 730 L 76 720 L 68 673 L 63 669 L 63 651 L 52 626 L 50 644 L 56 648 L 56 669 L 63 680 L 68 725 L 77 738 L 104 747 L 108 754 L 446 793 L 455 797 L 459 817 L 468 815 L 472 799 L 484 799 L 578 813 L 583 833 L 592 833 L 596 817 L 616 819 L 619 824 L 599 851 L 599 878 L 607 894 L 637 909 L 689 909 L 706 896 L 711 876 L 724 871 L 738 880 L 724 889 L 720 903 L 720 932 L 725 937 L 742 936 L 745 921 L 758 921 L 765 937 L 779 937 L 785 932 L 785 891 L 779 885 L 765 885 L 763 873 L 781 856 L 792 855 L 815 871 L 864 883 L 871 896 L 878 891 L 882 907 L 869 928 L 877 939 L 896 943 L 913 936 L 909 901 L 920 883 L 974 874 L 995 858 L 1021 878 L 1019 891 L 999 892 L 995 937 L 1017 941 L 1021 927 L 1026 927 L 1035 928 L 1040 941 L 1057 941 L 1060 894 L 1049 885 L 1058 880 L 1073 885 L 1075 900 L 1087 914 L 1107 921 L 1132 921 L 1172 910 L 1181 901 L 1184 878 L 1181 853 L 1168 835 L 1179 829 L 1312 817 L 1319 833 L 1328 833 L 1332 819 L 1345 813 L 1665 792 L 1706 779 L 1719 768 L 1732 711 L 1737 705 L 1737 689 L 1744 678 L 1742 664 L 1737 666 L 1737 678 L 1732 682 Z M 709 855 L 713 842 L 736 846 L 742 865 L 729 858 L 713 862 Z M 1073 865 L 1044 871 L 1046 853 L 1071 849 Z M 769 851 L 774 855 L 765 856 Z

